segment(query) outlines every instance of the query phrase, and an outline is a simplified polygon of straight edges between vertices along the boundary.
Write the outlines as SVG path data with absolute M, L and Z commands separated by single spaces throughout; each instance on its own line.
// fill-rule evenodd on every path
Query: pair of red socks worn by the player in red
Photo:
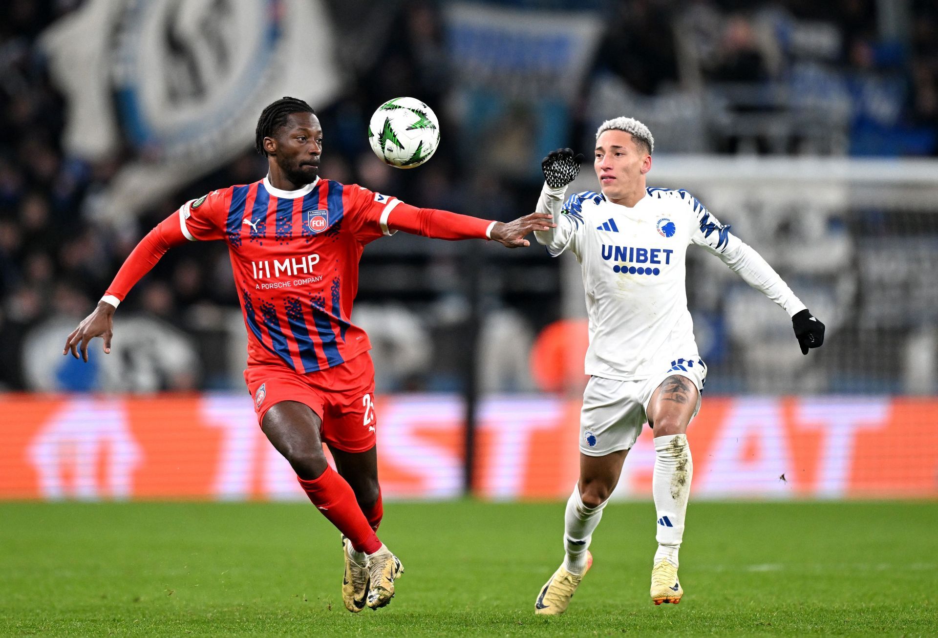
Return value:
M 296 479 L 310 497 L 312 504 L 352 542 L 356 552 L 374 554 L 381 549 L 381 541 L 371 525 L 374 512 L 378 512 L 377 521 L 381 522 L 383 509 L 380 497 L 371 510 L 371 515 L 366 519 L 358 507 L 351 486 L 331 467 L 326 467 L 325 472 L 317 479 Z M 377 527 L 377 524 L 373 526 Z

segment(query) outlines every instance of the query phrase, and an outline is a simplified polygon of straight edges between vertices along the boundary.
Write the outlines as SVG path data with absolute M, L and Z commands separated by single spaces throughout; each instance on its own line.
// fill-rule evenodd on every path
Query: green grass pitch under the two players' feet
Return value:
M 691 503 L 680 605 L 654 606 L 650 503 L 613 504 L 567 615 L 535 616 L 563 505 L 389 504 L 406 574 L 340 599 L 309 504 L 0 504 L 0 635 L 938 633 L 938 503 Z

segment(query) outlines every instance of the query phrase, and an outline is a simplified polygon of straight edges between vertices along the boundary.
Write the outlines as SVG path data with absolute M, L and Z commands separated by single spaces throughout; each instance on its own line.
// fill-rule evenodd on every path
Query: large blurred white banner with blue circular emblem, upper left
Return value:
M 87 0 L 42 44 L 68 153 L 129 152 L 95 211 L 113 220 L 249 148 L 271 101 L 322 108 L 340 89 L 319 0 Z

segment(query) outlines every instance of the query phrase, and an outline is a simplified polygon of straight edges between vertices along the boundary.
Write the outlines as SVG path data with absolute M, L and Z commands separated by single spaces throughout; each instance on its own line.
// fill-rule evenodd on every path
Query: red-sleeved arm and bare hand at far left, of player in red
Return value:
M 110 355 L 113 315 L 117 305 L 127 296 L 134 284 L 157 265 L 166 251 L 186 241 L 187 237 L 182 234 L 179 211 L 160 221 L 130 252 L 123 266 L 120 266 L 107 292 L 98 301 L 98 308 L 68 335 L 62 354 L 67 355 L 71 351 L 72 357 L 79 358 L 78 352 L 81 350 L 81 358 L 87 361 L 88 342 L 96 337 L 103 337 L 104 354 Z

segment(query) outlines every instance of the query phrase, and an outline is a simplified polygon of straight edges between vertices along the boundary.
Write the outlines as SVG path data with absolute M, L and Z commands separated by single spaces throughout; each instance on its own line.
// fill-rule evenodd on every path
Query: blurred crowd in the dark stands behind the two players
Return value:
M 337 24 L 355 22 L 343 11 L 356 3 L 326 4 Z M 416 205 L 513 219 L 536 201 L 537 164 L 503 175 L 472 161 L 472 150 L 454 137 L 426 166 L 401 172 L 368 148 L 367 119 L 392 97 L 419 97 L 434 106 L 444 131 L 460 129 L 465 113 L 447 108 L 459 60 L 447 53 L 442 4 L 387 3 L 386 33 L 394 38 L 385 38 L 366 63 L 347 62 L 355 70 L 341 99 L 313 105 L 328 139 L 321 173 Z M 578 150 L 592 142 L 598 120 L 626 111 L 648 120 L 661 153 L 938 154 L 938 6 L 930 0 L 897 3 L 907 11 L 891 22 L 880 14 L 885 3 L 874 0 L 485 4 L 585 8 L 602 17 L 582 99 L 567 111 L 569 133 L 560 140 Z M 87 369 L 55 358 L 156 222 L 189 198 L 265 173 L 265 160 L 246 147 L 242 157 L 154 203 L 139 219 L 119 227 L 98 220 L 96 193 L 122 157 L 88 163 L 63 152 L 64 98 L 37 45 L 50 23 L 81 5 L 0 5 L 0 389 L 240 390 L 243 342 L 232 335 L 243 327 L 220 243 L 171 251 L 129 296 L 118 322 L 134 316 L 144 323 L 133 335 L 128 324 L 116 327 L 115 347 L 132 344 L 118 353 L 123 372 L 89 381 Z M 354 30 L 342 38 L 354 42 Z M 379 386 L 460 387 L 461 339 L 472 319 L 469 249 L 415 237 L 382 244 L 366 250 L 356 306 L 373 333 L 376 359 L 383 359 Z M 493 262 L 494 281 L 477 282 L 489 389 L 535 387 L 527 353 L 561 315 L 556 263 L 537 248 L 516 252 L 523 254 L 505 257 L 487 247 L 491 260 L 506 261 Z

